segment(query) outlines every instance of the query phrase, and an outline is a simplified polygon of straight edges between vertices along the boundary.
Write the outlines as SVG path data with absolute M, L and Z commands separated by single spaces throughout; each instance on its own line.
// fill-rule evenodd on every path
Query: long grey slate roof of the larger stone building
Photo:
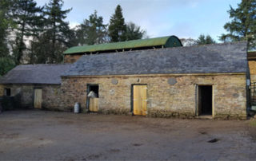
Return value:
M 246 73 L 246 42 L 84 55 L 62 76 Z

